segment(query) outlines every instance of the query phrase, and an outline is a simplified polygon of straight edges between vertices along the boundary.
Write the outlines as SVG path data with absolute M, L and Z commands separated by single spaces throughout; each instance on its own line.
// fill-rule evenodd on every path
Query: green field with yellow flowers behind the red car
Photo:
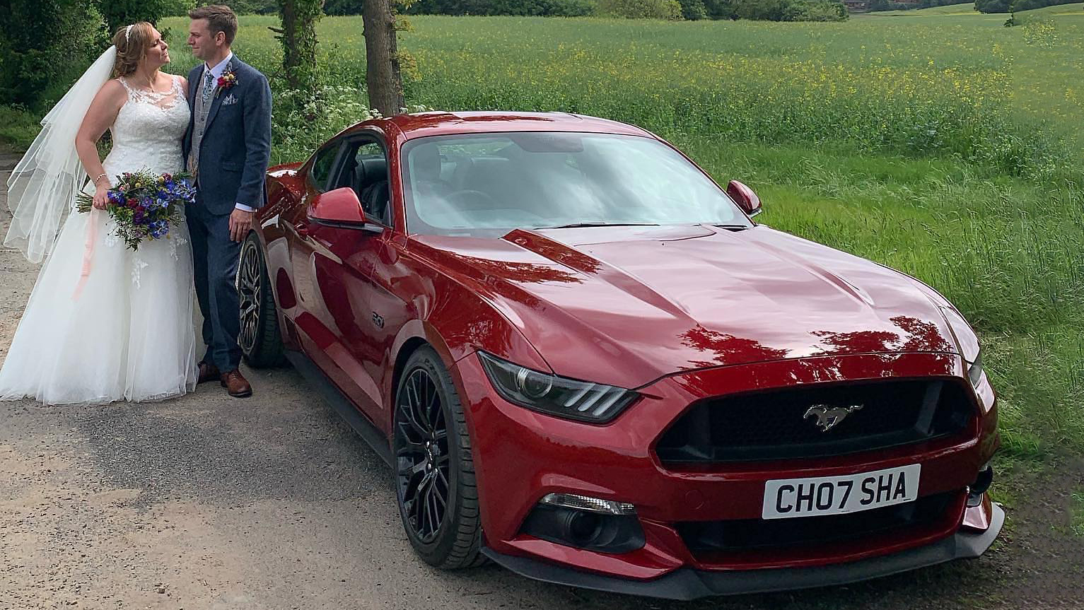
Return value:
M 1005 459 L 1030 460 L 1084 452 L 1084 5 L 1005 17 L 413 17 L 401 44 L 409 103 L 641 125 L 752 185 L 764 222 L 932 284 L 983 336 Z M 272 25 L 244 18 L 235 48 L 273 75 Z M 360 17 L 319 31 L 327 85 L 357 90 Z

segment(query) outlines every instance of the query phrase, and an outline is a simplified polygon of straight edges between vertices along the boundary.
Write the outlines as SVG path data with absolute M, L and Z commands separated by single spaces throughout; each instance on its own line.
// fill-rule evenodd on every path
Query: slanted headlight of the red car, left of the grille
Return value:
M 624 388 L 540 373 L 481 351 L 478 356 L 504 400 L 567 419 L 604 424 L 640 397 Z

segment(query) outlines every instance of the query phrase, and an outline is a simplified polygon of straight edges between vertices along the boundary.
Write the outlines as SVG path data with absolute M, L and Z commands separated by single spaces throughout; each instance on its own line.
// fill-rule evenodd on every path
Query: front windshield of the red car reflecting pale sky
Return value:
M 402 147 L 408 230 L 500 236 L 607 224 L 751 226 L 711 179 L 649 138 L 515 132 L 435 135 Z

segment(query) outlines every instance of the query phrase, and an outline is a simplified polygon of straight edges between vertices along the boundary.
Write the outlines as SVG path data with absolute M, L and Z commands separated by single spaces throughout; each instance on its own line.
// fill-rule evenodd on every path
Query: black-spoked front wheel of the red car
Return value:
M 411 546 L 444 570 L 485 562 L 470 436 L 451 375 L 429 346 L 396 390 L 391 451 L 399 516 Z

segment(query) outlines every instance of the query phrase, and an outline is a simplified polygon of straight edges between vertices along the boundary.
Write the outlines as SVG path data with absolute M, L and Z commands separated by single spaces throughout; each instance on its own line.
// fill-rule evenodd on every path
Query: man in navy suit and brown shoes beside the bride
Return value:
M 237 369 L 241 320 L 234 278 L 253 212 L 263 205 L 271 88 L 267 77 L 230 51 L 237 16 L 229 7 L 201 7 L 189 17 L 189 46 L 204 62 L 189 73 L 192 119 L 184 135 L 196 183 L 195 205 L 185 211 L 207 346 L 199 382 L 218 379 L 231 397 L 244 398 L 253 395 L 253 388 Z

